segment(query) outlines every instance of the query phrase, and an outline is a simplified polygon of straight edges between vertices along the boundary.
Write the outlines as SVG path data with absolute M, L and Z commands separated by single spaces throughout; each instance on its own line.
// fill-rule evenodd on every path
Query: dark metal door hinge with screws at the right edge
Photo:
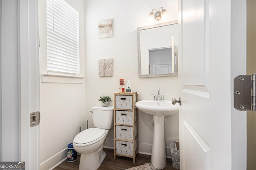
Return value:
M 234 107 L 238 110 L 256 111 L 256 74 L 234 78 Z

